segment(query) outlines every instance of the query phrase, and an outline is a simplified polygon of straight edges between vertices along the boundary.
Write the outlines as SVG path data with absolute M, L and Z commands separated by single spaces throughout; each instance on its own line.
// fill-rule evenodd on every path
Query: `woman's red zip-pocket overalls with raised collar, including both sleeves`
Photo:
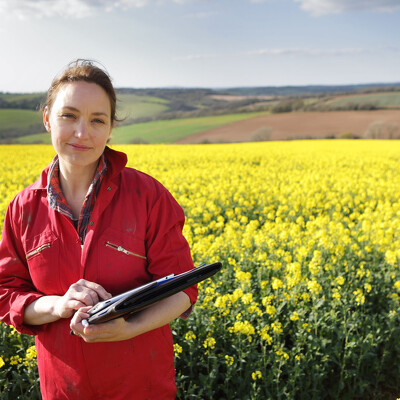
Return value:
M 23 324 L 24 308 L 43 295 L 63 295 L 80 278 L 113 295 L 193 268 L 184 214 L 155 179 L 125 168 L 106 148 L 108 171 L 81 243 L 71 220 L 50 209 L 47 172 L 10 203 L 0 242 L 0 319 L 36 335 L 43 399 L 173 399 L 175 370 L 169 325 L 114 343 L 85 343 L 60 319 Z M 130 254 L 115 249 L 128 250 Z M 191 303 L 197 288 L 185 292 Z

